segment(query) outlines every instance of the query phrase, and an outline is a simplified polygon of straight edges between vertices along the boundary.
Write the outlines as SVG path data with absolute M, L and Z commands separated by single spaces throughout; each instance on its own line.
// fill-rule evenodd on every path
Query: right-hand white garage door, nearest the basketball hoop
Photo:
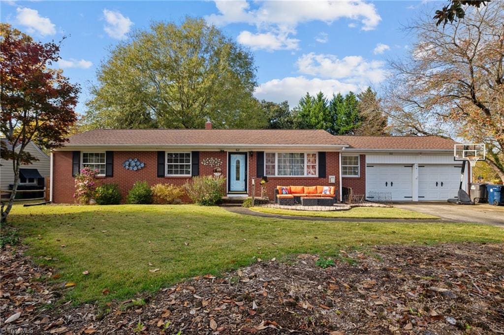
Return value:
M 418 200 L 447 200 L 457 197 L 461 169 L 462 165 L 456 164 L 419 164 Z

